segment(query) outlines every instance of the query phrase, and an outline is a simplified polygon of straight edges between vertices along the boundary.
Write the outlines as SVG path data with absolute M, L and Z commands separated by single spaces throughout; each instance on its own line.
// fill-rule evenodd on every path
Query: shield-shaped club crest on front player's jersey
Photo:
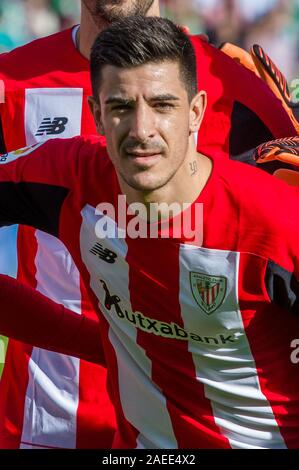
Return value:
M 193 297 L 205 313 L 210 315 L 220 307 L 226 294 L 226 277 L 191 272 L 190 284 Z

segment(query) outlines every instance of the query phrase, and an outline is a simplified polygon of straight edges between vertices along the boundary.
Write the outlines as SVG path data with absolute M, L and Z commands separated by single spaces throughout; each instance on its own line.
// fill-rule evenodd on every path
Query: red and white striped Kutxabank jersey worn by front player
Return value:
M 1 160 L 1 223 L 58 236 L 100 316 L 114 447 L 299 447 L 296 189 L 215 158 L 191 207 L 203 204 L 202 246 L 99 239 L 98 204 L 114 205 L 106 222 L 117 229 L 120 193 L 99 139 L 48 141 Z

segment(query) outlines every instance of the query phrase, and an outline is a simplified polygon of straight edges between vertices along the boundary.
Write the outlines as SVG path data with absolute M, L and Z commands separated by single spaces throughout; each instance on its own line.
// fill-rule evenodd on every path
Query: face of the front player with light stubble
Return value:
M 119 177 L 139 191 L 165 186 L 186 158 L 198 114 L 195 99 L 189 103 L 179 65 L 107 65 L 101 78 L 93 113 Z

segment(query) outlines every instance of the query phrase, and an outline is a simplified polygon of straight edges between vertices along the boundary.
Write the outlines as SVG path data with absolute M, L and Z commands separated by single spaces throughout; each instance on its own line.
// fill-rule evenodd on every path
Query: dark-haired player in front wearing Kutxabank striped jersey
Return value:
M 97 137 L 4 155 L 0 214 L 59 237 L 79 268 L 100 317 L 113 446 L 298 447 L 296 190 L 196 151 L 206 93 L 192 45 L 171 22 L 115 23 L 96 40 L 91 72 L 109 156 Z M 163 220 L 146 224 L 160 237 L 136 238 L 121 195 L 131 210 L 166 203 L 162 219 L 172 203 L 189 204 L 202 242 L 165 238 Z

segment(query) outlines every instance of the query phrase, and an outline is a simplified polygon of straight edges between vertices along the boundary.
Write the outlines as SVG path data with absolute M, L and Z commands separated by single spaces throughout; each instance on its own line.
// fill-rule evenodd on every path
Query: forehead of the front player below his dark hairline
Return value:
M 105 65 L 99 90 L 100 96 L 115 94 L 136 96 L 161 93 L 186 93 L 176 62 L 148 63 L 132 68 Z

